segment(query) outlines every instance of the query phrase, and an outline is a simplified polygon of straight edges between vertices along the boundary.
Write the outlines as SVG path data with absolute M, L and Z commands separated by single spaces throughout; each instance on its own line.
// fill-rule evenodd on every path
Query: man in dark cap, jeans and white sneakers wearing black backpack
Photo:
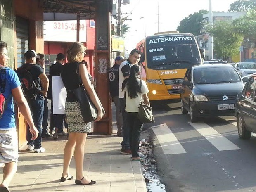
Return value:
M 39 58 L 39 56 L 36 54 L 34 50 L 28 50 L 25 54 L 26 63 L 22 65 L 21 67 L 30 66 L 31 64 L 34 64 L 34 66 L 31 67 L 29 72 L 31 73 L 31 76 L 33 80 L 36 82 L 36 84 L 41 83 L 38 87 L 38 95 L 36 97 L 36 100 L 28 100 L 28 105 L 31 110 L 31 114 L 33 116 L 33 121 L 36 126 L 36 128 L 39 131 L 38 138 L 36 140 L 32 140 L 32 135 L 29 131 L 27 131 L 27 141 L 28 141 L 28 151 L 35 151 L 36 153 L 45 152 L 45 149 L 42 147 L 42 121 L 43 121 L 43 109 L 44 109 L 44 100 L 47 94 L 48 86 L 49 86 L 49 80 L 47 76 L 45 75 L 43 69 L 36 65 L 36 57 Z M 28 127 L 29 129 L 29 127 Z

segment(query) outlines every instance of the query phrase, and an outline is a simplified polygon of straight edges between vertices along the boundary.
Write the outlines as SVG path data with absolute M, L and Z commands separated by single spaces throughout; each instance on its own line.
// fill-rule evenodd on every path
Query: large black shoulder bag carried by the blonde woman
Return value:
M 93 104 L 92 100 L 90 99 L 88 93 L 86 92 L 84 86 L 83 86 L 83 83 L 82 83 L 82 80 L 81 80 L 81 76 L 80 76 L 80 73 L 79 73 L 79 63 L 77 65 L 77 73 L 78 73 L 78 76 L 79 76 L 79 87 L 76 88 L 75 90 L 73 90 L 73 93 L 75 94 L 79 104 L 80 104 L 80 111 L 81 111 L 81 114 L 83 116 L 83 121 L 85 123 L 89 123 L 89 122 L 92 122 L 92 121 L 95 121 L 95 119 L 97 119 L 97 115 L 98 115 L 98 110 L 97 108 L 95 107 L 95 105 Z M 100 106 L 102 107 L 102 104 L 99 100 L 99 98 L 97 97 L 96 95 L 96 99 L 98 100 L 98 102 L 100 103 Z M 105 110 L 104 108 L 102 107 L 102 111 L 103 111 L 103 115 L 105 114 Z

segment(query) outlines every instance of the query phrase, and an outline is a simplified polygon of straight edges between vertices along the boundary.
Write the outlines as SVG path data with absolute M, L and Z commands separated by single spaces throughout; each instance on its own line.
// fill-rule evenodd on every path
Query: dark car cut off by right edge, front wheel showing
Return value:
M 251 138 L 251 132 L 256 133 L 256 74 L 251 75 L 237 95 L 235 115 L 239 137 Z

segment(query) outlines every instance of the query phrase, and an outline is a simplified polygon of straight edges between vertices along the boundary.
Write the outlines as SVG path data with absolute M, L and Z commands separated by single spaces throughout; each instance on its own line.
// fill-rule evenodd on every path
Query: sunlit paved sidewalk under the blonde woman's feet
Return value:
M 113 122 L 113 126 L 115 122 Z M 113 134 L 116 128 L 113 128 Z M 44 153 L 19 153 L 18 170 L 10 190 L 12 192 L 147 192 L 140 162 L 130 161 L 120 154 L 121 137 L 116 135 L 88 135 L 84 155 L 84 175 L 97 181 L 95 185 L 75 185 L 75 180 L 60 183 L 63 150 L 66 137 L 43 139 Z M 2 168 L 0 168 L 2 179 Z M 76 178 L 74 158 L 70 174 Z

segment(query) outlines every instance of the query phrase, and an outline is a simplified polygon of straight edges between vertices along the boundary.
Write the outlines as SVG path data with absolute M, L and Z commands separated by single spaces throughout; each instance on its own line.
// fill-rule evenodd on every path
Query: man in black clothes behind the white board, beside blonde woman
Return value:
M 65 56 L 62 53 L 59 53 L 56 57 L 56 63 L 50 66 L 49 71 L 49 92 L 48 97 L 52 100 L 52 77 L 60 76 L 62 71 L 62 65 L 64 64 Z M 53 114 L 53 102 L 51 101 L 51 114 L 50 114 L 50 133 L 53 132 L 53 128 L 55 127 L 55 133 L 52 136 L 53 139 L 58 139 L 59 135 L 67 135 L 63 131 L 63 120 L 65 114 Z

